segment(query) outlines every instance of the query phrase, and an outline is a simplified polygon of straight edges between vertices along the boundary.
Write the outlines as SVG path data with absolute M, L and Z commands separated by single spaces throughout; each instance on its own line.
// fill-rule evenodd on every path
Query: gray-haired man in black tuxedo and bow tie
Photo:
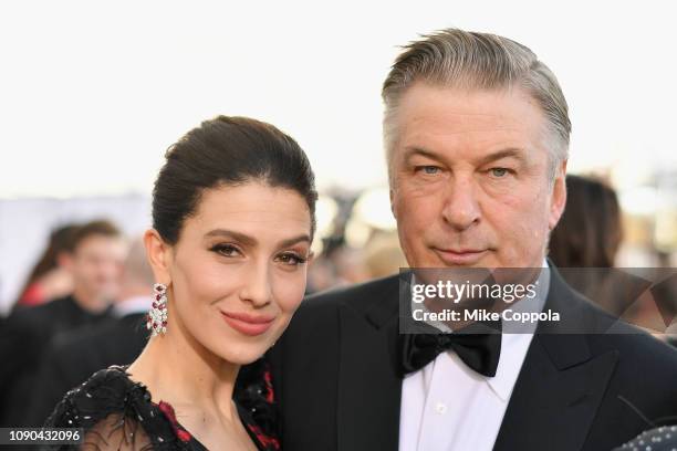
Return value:
M 283 449 L 608 450 L 677 415 L 677 353 L 545 259 L 571 130 L 552 72 L 509 39 L 442 30 L 404 49 L 383 98 L 409 266 L 548 268 L 535 307 L 561 319 L 419 339 L 399 333 L 398 276 L 312 296 L 269 353 Z

